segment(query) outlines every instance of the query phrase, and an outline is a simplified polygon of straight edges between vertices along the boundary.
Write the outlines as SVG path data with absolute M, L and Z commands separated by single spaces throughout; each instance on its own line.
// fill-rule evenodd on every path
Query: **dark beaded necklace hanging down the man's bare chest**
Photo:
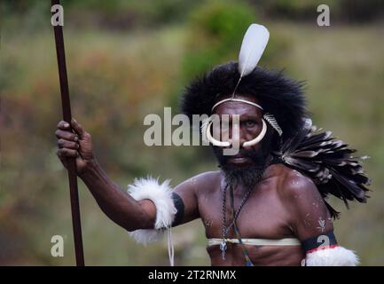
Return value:
M 273 156 L 270 155 L 269 159 L 266 162 L 266 166 L 264 167 L 264 170 L 262 170 L 257 177 L 258 182 L 262 179 L 264 171 L 268 168 L 268 166 L 270 165 L 270 162 L 272 162 L 272 160 L 273 160 Z M 246 202 L 249 198 L 249 195 L 252 193 L 253 189 L 255 188 L 255 186 L 254 186 L 254 187 L 251 187 L 247 190 L 246 195 L 243 197 L 243 199 L 240 202 L 239 208 L 236 210 L 236 212 L 233 215 L 233 220 L 231 221 L 231 224 L 227 226 L 226 209 L 227 209 L 227 189 L 228 189 L 228 187 L 229 187 L 229 185 L 227 184 L 223 188 L 223 207 L 222 207 L 222 210 L 223 210 L 223 241 L 220 242 L 220 251 L 222 252 L 223 260 L 225 259 L 225 251 L 227 250 L 227 234 L 230 233 L 231 227 L 236 223 L 236 220 L 239 217 L 241 209 L 244 207 L 244 205 L 246 204 Z M 233 191 L 233 188 L 231 188 L 231 191 Z M 232 208 L 232 211 L 234 212 L 234 208 Z

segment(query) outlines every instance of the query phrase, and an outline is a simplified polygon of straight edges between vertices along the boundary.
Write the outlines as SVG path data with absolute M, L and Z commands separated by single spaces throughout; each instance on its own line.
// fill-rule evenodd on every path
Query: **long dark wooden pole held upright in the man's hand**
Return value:
M 59 0 L 51 0 L 52 6 L 60 4 Z M 52 12 L 53 13 L 53 12 Z M 71 103 L 69 100 L 66 52 L 64 49 L 63 28 L 60 25 L 53 26 L 55 33 L 56 54 L 59 66 L 59 81 L 61 92 L 61 106 L 63 120 L 71 123 Z M 69 193 L 71 198 L 72 225 L 74 229 L 74 251 L 76 255 L 76 265 L 84 266 L 84 253 L 82 249 L 82 224 L 80 219 L 79 193 L 77 189 L 76 161 L 70 159 L 68 162 Z

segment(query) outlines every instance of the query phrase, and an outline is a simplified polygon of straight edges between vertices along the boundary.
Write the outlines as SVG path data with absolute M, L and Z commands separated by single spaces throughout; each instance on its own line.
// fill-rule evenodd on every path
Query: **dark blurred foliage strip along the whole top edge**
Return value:
M 317 6 L 327 4 L 331 9 L 332 20 L 347 22 L 368 22 L 384 17 L 384 0 L 62 0 L 66 7 L 69 25 L 98 28 L 154 28 L 170 23 L 182 23 L 186 13 L 201 4 L 212 2 L 250 4 L 253 10 L 263 16 L 289 20 L 313 20 L 317 17 Z M 51 1 L 3 0 L 0 5 L 5 14 L 36 16 L 49 12 Z M 238 11 L 234 8 L 234 13 Z M 32 13 L 31 13 L 32 12 Z M 252 12 L 252 11 L 250 11 Z M 231 19 L 231 13 L 228 14 Z M 25 17 L 24 20 L 27 20 Z M 42 17 L 31 17 L 34 25 L 43 26 Z

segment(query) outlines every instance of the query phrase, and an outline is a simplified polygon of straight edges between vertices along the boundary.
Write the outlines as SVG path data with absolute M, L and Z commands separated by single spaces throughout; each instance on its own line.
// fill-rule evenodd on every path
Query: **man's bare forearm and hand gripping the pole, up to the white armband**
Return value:
M 156 208 L 152 201 L 137 202 L 129 194 L 123 193 L 118 185 L 106 176 L 92 153 L 90 134 L 82 125 L 73 120 L 74 132 L 67 122 L 61 121 L 56 130 L 60 161 L 67 167 L 67 159 L 76 159 L 77 174 L 90 189 L 100 209 L 117 225 L 129 231 L 153 228 Z

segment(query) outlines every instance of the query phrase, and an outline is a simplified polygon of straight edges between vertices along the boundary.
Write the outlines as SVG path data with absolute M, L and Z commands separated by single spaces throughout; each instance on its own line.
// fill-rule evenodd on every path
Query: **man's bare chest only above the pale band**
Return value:
M 208 239 L 222 238 L 223 228 L 227 231 L 226 238 L 237 237 L 232 225 L 233 212 L 235 214 L 238 212 L 244 194 L 235 192 L 233 197 L 232 209 L 228 192 L 225 204 L 223 203 L 223 191 L 220 188 L 208 193 L 200 193 L 200 217 Z M 278 199 L 274 188 L 263 186 L 250 193 L 239 211 L 236 224 L 243 239 L 282 239 L 293 237 L 287 218 L 286 209 Z M 226 229 L 229 226 L 231 228 Z

